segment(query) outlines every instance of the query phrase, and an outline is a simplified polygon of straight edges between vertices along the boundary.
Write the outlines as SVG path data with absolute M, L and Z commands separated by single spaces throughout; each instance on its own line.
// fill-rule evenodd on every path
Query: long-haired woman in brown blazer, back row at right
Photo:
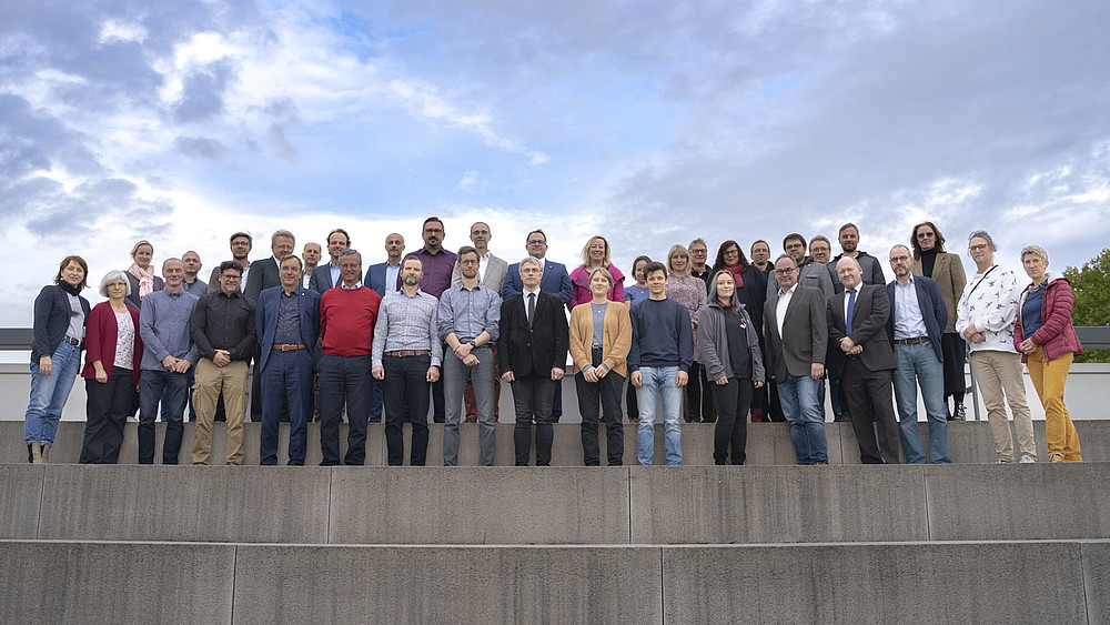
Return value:
M 945 235 L 931 221 L 914 226 L 910 234 L 914 250 L 914 275 L 931 278 L 940 288 L 940 296 L 948 306 L 948 325 L 940 336 L 940 351 L 945 356 L 945 412 L 949 420 L 963 421 L 967 410 L 963 407 L 963 393 L 967 381 L 963 377 L 963 361 L 967 344 L 956 331 L 956 304 L 963 294 L 967 275 L 963 273 L 963 262 L 959 255 L 945 251 Z M 952 397 L 952 407 L 948 407 L 948 397 Z

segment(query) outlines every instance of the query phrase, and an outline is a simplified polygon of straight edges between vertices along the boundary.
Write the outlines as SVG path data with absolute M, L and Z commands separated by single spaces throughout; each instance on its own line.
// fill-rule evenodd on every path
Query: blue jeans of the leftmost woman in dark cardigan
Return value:
M 62 417 L 62 409 L 81 366 L 81 351 L 63 342 L 50 355 L 50 375 L 39 373 L 38 361 L 31 363 L 31 400 L 23 417 L 23 442 L 28 445 L 54 444 L 58 420 Z

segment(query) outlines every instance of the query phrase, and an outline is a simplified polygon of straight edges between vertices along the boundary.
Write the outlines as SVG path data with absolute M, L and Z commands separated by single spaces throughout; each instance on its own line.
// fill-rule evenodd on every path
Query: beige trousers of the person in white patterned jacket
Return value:
M 1021 380 L 1021 356 L 1010 352 L 971 352 L 971 366 L 976 381 L 982 391 L 982 403 L 987 406 L 990 433 L 995 436 L 998 460 L 1013 462 L 1013 438 L 1010 422 L 1006 419 L 1006 404 L 1013 413 L 1013 430 L 1018 433 L 1021 455 L 1037 458 L 1033 443 L 1033 421 L 1026 403 L 1026 385 Z M 1005 401 L 1003 401 L 1005 394 Z

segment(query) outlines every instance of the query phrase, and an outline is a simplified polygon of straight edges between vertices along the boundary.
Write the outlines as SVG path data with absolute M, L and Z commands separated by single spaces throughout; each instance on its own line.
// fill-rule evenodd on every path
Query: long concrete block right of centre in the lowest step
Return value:
M 664 547 L 664 621 L 1087 623 L 1080 551 L 1078 543 Z

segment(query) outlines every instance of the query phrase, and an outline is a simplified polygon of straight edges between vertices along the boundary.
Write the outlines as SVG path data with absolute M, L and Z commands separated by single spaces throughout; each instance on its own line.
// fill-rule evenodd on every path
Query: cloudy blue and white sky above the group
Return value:
M 885 258 L 1080 264 L 1110 241 L 1110 3 L 147 0 L 0 3 L 0 325 L 57 262 L 99 281 L 249 230 L 335 226 L 577 262 L 859 224 Z M 966 256 L 965 256 L 966 258 Z M 206 273 L 206 270 L 205 270 Z

